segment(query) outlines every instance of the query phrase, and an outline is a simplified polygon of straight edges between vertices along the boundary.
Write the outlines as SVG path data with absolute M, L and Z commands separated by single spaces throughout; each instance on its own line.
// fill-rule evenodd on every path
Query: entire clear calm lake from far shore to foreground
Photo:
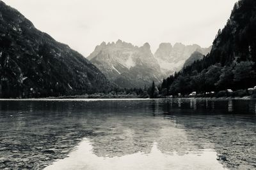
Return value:
M 0 169 L 256 169 L 256 101 L 0 101 Z

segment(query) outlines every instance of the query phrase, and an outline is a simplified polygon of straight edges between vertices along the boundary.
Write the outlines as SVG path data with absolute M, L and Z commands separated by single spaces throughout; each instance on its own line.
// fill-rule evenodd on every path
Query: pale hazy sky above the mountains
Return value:
M 87 57 L 102 41 L 122 39 L 152 52 L 159 43 L 208 47 L 237 0 L 3 0 L 36 28 Z

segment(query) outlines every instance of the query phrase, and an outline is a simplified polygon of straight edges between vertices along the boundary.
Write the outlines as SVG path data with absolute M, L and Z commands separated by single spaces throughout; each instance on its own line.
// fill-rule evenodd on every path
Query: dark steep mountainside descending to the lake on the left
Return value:
M 109 87 L 91 62 L 0 1 L 1 97 L 62 96 Z

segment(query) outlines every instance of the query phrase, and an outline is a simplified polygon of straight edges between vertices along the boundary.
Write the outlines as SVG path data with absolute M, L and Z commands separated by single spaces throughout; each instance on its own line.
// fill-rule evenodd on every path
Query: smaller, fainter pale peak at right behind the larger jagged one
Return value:
M 161 43 L 154 56 L 156 57 L 161 71 L 166 74 L 173 74 L 175 71 L 180 71 L 185 61 L 193 52 L 200 52 L 204 55 L 211 51 L 209 48 L 201 48 L 199 45 L 183 45 L 182 43 Z

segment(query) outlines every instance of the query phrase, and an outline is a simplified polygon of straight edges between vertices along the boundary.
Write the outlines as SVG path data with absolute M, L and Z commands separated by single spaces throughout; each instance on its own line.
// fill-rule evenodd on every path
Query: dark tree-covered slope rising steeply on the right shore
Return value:
M 225 27 L 218 31 L 212 50 L 163 81 L 164 94 L 189 94 L 256 85 L 256 1 L 238 1 Z M 167 92 L 166 92 L 167 91 Z

